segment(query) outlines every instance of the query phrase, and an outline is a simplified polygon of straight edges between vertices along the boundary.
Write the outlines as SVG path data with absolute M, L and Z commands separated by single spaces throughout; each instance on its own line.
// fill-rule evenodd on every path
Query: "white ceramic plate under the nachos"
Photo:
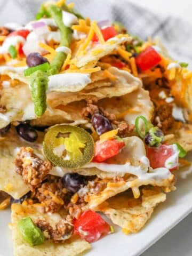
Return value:
M 152 218 L 138 234 L 126 236 L 116 227 L 115 234 L 93 243 L 92 250 L 85 255 L 140 255 L 192 212 L 191 184 L 192 174 L 186 179 L 179 179 L 177 190 L 167 194 L 167 200 L 156 208 Z M 7 226 L 9 222 L 10 211 L 0 211 L 0 256 L 13 256 L 11 230 Z

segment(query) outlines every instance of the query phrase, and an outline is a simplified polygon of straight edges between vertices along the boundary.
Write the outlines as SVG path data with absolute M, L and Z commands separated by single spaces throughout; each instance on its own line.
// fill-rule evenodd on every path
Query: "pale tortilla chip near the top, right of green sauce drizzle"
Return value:
M 131 41 L 132 41 L 132 37 L 125 36 L 121 38 L 117 38 L 117 37 L 114 38 L 113 43 L 108 41 L 103 44 L 94 44 L 89 50 L 86 50 L 85 54 L 75 55 L 75 58 L 71 61 L 74 62 L 78 68 L 81 68 L 87 65 L 87 63 L 98 61 L 103 56 L 106 56 L 109 53 L 113 52 L 119 44 L 122 44 L 125 42 L 131 42 Z

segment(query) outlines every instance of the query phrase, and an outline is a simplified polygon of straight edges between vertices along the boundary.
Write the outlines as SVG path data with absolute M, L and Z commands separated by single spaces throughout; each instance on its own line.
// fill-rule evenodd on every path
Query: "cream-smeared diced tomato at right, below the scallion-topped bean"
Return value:
M 147 147 L 147 157 L 150 162 L 150 166 L 155 169 L 159 167 L 165 167 L 166 160 L 175 154 L 175 148 L 174 145 L 161 145 L 158 148 L 155 147 Z M 173 167 L 170 168 L 171 171 L 178 169 L 178 160 L 179 160 L 179 152 L 178 157 L 175 159 L 175 163 L 173 164 Z

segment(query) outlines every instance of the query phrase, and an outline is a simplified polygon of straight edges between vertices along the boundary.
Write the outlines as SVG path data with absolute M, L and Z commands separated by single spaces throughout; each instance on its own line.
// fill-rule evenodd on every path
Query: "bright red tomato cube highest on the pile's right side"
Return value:
M 161 56 L 153 47 L 148 46 L 145 51 L 141 52 L 137 55 L 137 57 L 135 57 L 135 61 L 137 66 L 142 71 L 145 71 L 155 67 L 161 61 Z

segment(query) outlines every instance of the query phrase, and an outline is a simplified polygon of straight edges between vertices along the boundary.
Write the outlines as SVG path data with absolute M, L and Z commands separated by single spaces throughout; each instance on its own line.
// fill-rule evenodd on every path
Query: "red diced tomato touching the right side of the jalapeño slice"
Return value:
M 93 162 L 103 162 L 110 157 L 118 155 L 124 146 L 125 142 L 123 140 L 98 140 L 95 143 Z

